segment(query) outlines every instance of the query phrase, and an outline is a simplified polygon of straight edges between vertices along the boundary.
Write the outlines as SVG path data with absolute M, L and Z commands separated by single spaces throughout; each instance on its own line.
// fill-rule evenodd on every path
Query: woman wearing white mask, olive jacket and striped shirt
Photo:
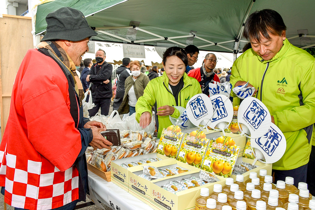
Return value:
M 146 85 L 149 83 L 149 77 L 140 71 L 140 62 L 135 60 L 130 62 L 131 76 L 125 80 L 125 95 L 123 96 L 123 102 L 119 106 L 118 112 L 120 115 L 129 112 L 129 116 L 135 113 L 135 105 L 140 96 L 143 95 L 143 91 Z

